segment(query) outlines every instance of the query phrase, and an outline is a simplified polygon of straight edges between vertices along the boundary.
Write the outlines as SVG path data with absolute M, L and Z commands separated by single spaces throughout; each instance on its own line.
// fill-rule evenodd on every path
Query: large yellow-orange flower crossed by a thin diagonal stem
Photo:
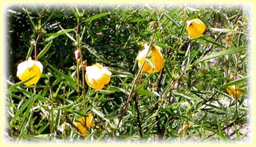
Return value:
M 148 52 L 149 49 L 150 51 Z M 144 66 L 141 69 L 142 71 L 145 71 L 147 73 L 156 73 L 160 71 L 163 68 L 164 61 L 163 55 L 160 50 L 161 48 L 157 45 L 152 45 L 152 47 L 149 48 L 149 45 L 147 45 L 147 43 L 144 43 L 144 50 L 139 52 L 136 58 L 139 68 L 141 68 L 146 58 Z

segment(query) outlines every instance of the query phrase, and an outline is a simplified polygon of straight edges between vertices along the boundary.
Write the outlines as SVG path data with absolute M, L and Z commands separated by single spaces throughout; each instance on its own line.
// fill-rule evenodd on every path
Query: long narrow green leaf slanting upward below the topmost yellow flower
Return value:
M 229 54 L 233 54 L 235 52 L 242 52 L 243 50 L 245 50 L 245 48 L 247 48 L 246 46 L 242 46 L 242 47 L 238 47 L 238 48 L 230 48 L 228 50 L 223 50 L 221 52 L 214 52 L 213 54 L 211 55 L 208 55 L 204 58 L 199 58 L 198 60 L 194 61 L 193 64 L 198 64 L 202 61 L 206 61 L 206 60 L 209 60 L 210 58 L 217 58 L 217 57 L 220 57 L 220 56 L 223 56 L 223 55 L 229 55 Z

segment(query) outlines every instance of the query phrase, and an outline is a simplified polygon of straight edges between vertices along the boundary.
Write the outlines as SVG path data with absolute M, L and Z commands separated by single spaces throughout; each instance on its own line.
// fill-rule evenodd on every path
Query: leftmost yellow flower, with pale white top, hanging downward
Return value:
M 43 64 L 40 61 L 34 61 L 29 58 L 27 61 L 23 61 L 17 65 L 17 77 L 21 80 L 28 80 L 33 77 L 31 80 L 24 83 L 25 85 L 33 85 L 40 80 L 40 77 L 43 73 Z

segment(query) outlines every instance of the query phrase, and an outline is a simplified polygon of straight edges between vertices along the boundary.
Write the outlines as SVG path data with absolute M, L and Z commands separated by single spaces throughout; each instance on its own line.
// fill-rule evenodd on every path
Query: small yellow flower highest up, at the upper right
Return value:
M 187 21 L 187 30 L 189 38 L 197 39 L 202 36 L 204 30 L 206 29 L 205 24 L 202 20 L 198 18 L 194 18 L 192 20 Z

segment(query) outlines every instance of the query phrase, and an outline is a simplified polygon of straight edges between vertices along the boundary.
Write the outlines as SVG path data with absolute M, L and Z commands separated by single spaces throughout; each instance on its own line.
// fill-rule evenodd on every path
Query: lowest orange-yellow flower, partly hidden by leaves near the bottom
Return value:
M 80 133 L 83 136 L 87 136 L 87 128 L 93 128 L 94 127 L 94 118 L 93 114 L 89 114 L 87 117 L 79 117 L 77 118 L 77 121 L 74 122 L 74 125 L 77 127 L 77 129 L 80 131 Z

